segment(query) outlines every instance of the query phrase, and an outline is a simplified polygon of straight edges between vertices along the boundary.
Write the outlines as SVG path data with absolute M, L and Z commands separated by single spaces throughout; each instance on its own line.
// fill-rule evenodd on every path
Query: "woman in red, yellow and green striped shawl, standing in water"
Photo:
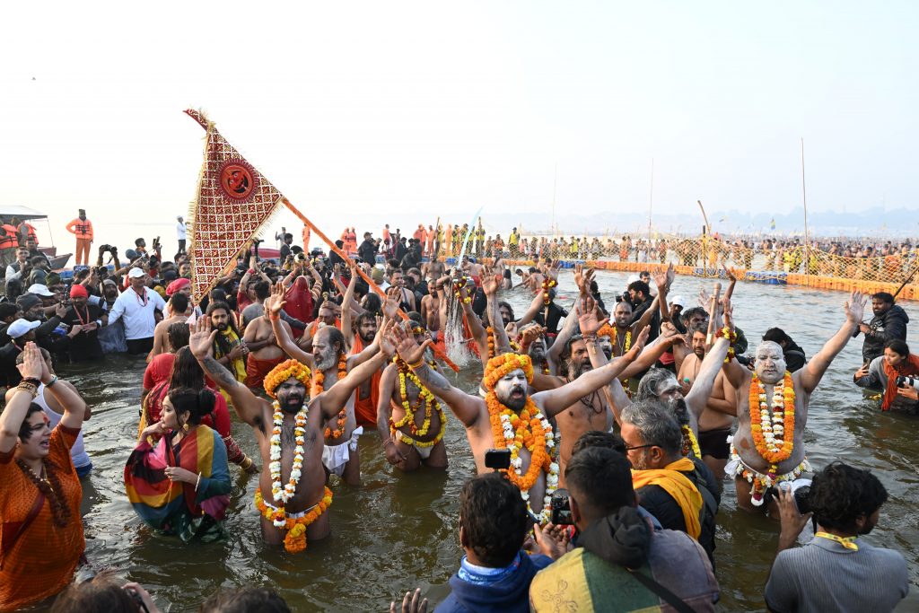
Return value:
M 151 528 L 184 542 L 220 539 L 230 504 L 226 446 L 201 424 L 214 403 L 208 389 L 170 390 L 160 420 L 144 428 L 124 467 L 134 511 Z

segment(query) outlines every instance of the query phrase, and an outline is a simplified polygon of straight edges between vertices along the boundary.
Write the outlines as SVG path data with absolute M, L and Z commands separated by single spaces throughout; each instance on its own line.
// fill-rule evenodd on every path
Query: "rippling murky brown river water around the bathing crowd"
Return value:
M 607 305 L 625 288 L 625 274 L 599 272 Z M 675 293 L 687 299 L 710 281 L 677 278 Z M 523 289 L 505 292 L 518 312 L 531 301 Z M 563 272 L 560 303 L 575 296 L 572 275 Z M 735 319 L 751 347 L 767 328 L 783 327 L 811 358 L 843 322 L 845 294 L 783 286 L 741 284 L 734 295 Z M 690 300 L 692 301 L 692 300 Z M 868 305 L 870 308 L 870 305 Z M 909 306 L 907 305 L 907 310 Z M 870 315 L 870 312 L 868 311 Z M 910 334 L 913 347 L 919 334 Z M 751 349 L 752 350 L 752 349 Z M 890 493 L 873 545 L 901 551 L 909 564 L 910 596 L 901 610 L 919 609 L 919 421 L 910 415 L 881 414 L 851 383 L 861 361 L 861 338 L 836 358 L 811 401 L 806 443 L 816 467 L 844 460 L 868 468 Z M 449 591 L 448 579 L 459 566 L 459 490 L 474 471 L 465 433 L 448 422 L 446 473 L 402 474 L 380 450 L 376 434 L 361 437 L 363 484 L 348 488 L 335 482 L 331 507 L 333 535 L 311 542 L 300 555 L 268 548 L 261 542 L 252 504 L 256 479 L 231 466 L 233 502 L 227 519 L 229 539 L 183 545 L 154 536 L 131 510 L 122 470 L 137 435 L 144 363 L 116 356 L 104 366 L 69 366 L 62 376 L 74 382 L 93 408 L 85 424 L 86 448 L 95 469 L 84 483 L 86 555 L 97 568 L 113 568 L 144 585 L 165 611 L 198 610 L 218 588 L 271 586 L 294 611 L 381 611 L 391 598 L 420 586 L 434 603 Z M 481 369 L 459 373 L 455 384 L 474 392 Z M 248 426 L 234 421 L 233 435 L 255 455 Z M 777 544 L 777 522 L 749 516 L 736 508 L 732 483 L 726 483 L 718 516 L 717 576 L 725 611 L 765 609 L 762 599 Z M 44 610 L 47 607 L 38 607 Z

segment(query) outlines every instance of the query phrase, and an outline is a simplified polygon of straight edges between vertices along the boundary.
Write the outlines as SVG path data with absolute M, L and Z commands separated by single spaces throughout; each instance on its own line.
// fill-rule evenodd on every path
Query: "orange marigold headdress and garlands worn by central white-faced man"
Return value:
M 526 501 L 531 513 L 534 511 L 529 501 L 529 490 L 539 480 L 540 472 L 546 475 L 543 504 L 539 514 L 535 514 L 539 518 L 539 524 L 544 525 L 550 520 L 552 494 L 559 484 L 558 448 L 549 420 L 540 413 L 532 398 L 528 397 L 523 409 L 516 414 L 495 395 L 495 383 L 516 369 L 522 369 L 528 382 L 532 382 L 533 364 L 529 356 L 506 353 L 488 361 L 488 368 L 485 369 L 485 376 L 482 378 L 485 389 L 488 390 L 485 404 L 488 406 L 494 447 L 510 449 L 511 452 L 511 467 L 504 472 L 508 481 L 520 490 L 520 496 Z M 520 458 L 521 448 L 527 448 L 530 452 L 526 473 L 523 472 L 523 459 Z

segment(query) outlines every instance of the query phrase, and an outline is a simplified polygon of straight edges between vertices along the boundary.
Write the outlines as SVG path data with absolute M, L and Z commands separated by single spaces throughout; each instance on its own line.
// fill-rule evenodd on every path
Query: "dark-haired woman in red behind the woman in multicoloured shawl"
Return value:
M 201 369 L 198 360 L 191 355 L 187 346 L 183 346 L 176 351 L 176 359 L 173 361 L 172 374 L 169 379 L 160 381 L 153 385 L 153 389 L 144 397 L 141 403 L 141 426 L 138 430 L 139 440 L 142 439 L 140 433 L 147 426 L 152 426 L 160 420 L 160 414 L 163 412 L 163 403 L 169 395 L 169 390 L 179 388 L 188 388 L 200 392 L 209 389 L 215 393 L 217 402 L 214 404 L 213 413 L 201 418 L 201 423 L 205 426 L 217 430 L 223 438 L 223 443 L 227 447 L 227 459 L 237 464 L 241 469 L 249 474 L 257 474 L 258 466 L 255 465 L 252 458 L 245 455 L 242 449 L 233 440 L 230 433 L 230 412 L 227 410 L 227 401 L 220 393 L 217 393 L 211 387 L 207 387 L 207 381 L 204 379 L 204 370 Z

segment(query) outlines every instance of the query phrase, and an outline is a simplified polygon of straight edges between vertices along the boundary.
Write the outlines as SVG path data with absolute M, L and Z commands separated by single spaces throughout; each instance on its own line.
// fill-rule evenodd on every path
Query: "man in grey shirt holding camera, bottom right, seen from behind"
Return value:
M 859 539 L 878 524 L 887 502 L 869 471 L 837 461 L 814 475 L 807 494 L 780 489 L 778 500 L 782 528 L 764 594 L 770 610 L 890 611 L 907 595 L 902 554 Z M 793 548 L 811 517 L 813 539 Z

